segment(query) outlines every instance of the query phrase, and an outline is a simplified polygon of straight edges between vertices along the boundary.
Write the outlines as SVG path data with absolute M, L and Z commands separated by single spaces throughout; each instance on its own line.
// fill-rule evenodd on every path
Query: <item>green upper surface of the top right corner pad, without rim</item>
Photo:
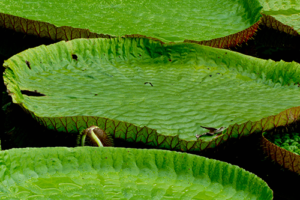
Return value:
M 300 1 L 297 0 L 259 0 L 262 13 L 274 17 L 284 25 L 300 33 Z M 282 27 L 281 29 L 284 29 Z

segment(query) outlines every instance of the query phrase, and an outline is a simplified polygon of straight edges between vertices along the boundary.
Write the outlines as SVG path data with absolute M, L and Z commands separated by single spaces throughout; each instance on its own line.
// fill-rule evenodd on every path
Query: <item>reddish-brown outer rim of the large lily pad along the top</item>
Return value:
M 238 33 L 228 35 L 221 38 L 204 41 L 185 40 L 186 43 L 197 43 L 205 46 L 216 48 L 232 48 L 241 43 L 247 42 L 258 29 L 261 20 L 253 24 L 251 27 Z M 108 34 L 98 34 L 90 32 L 89 29 L 73 28 L 70 26 L 57 27 L 47 22 L 25 19 L 10 14 L 0 13 L 0 27 L 14 30 L 16 32 L 27 35 L 35 35 L 41 38 L 50 38 L 54 42 L 69 41 L 76 38 L 115 38 Z M 143 35 L 133 34 L 121 37 L 143 37 L 160 41 L 159 39 L 147 37 Z M 164 42 L 160 41 L 162 44 Z

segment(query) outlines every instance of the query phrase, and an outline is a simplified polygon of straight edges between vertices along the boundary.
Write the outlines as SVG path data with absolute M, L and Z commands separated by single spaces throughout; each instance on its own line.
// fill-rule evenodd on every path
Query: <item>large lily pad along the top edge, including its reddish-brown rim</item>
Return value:
M 254 34 L 261 8 L 258 0 L 3 0 L 0 26 L 53 40 L 139 34 L 225 47 Z

